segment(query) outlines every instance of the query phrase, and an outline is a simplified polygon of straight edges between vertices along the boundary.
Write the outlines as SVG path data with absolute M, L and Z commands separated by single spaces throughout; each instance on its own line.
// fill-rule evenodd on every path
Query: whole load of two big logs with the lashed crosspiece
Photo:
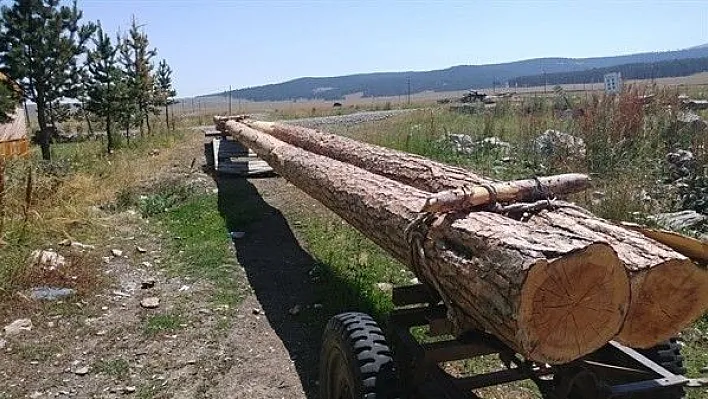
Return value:
M 559 364 L 613 339 L 651 347 L 708 308 L 705 265 L 549 199 L 587 188 L 584 175 L 499 182 L 312 129 L 215 123 L 407 265 L 458 333 Z

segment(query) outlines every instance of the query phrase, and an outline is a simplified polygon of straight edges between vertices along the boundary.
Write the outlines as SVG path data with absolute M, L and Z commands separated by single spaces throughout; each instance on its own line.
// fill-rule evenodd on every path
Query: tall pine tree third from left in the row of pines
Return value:
M 129 75 L 131 85 L 133 85 L 135 103 L 138 107 L 139 115 L 144 118 L 147 124 L 149 134 L 151 132 L 150 113 L 154 111 L 155 95 L 152 58 L 157 54 L 157 50 L 149 48 L 150 42 L 147 34 L 138 25 L 135 17 L 133 17 L 130 30 L 123 39 L 121 46 L 121 62 Z M 142 131 L 142 122 L 140 126 Z

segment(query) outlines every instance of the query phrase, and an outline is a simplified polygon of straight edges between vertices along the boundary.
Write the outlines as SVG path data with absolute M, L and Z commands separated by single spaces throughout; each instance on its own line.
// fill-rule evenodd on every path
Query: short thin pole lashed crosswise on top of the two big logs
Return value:
M 590 187 L 590 177 L 579 173 L 489 183 L 483 186 L 463 187 L 431 195 L 422 212 L 459 212 L 499 202 L 537 201 L 555 193 L 578 193 Z

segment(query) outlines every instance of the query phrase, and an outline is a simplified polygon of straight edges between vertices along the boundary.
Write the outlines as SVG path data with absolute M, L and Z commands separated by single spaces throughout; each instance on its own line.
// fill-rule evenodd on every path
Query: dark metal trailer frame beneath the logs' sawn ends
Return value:
M 395 287 L 396 308 L 389 316 L 389 340 L 393 343 L 398 371 L 408 395 L 424 398 L 473 399 L 474 389 L 530 379 L 546 398 L 615 398 L 647 394 L 684 386 L 697 380 L 676 375 L 617 342 L 568 364 L 550 366 L 522 359 L 496 337 L 471 331 L 450 337 L 447 309 L 423 284 Z M 420 343 L 411 328 L 427 326 L 428 334 L 441 340 Z M 448 374 L 441 363 L 498 354 L 506 369 L 468 377 Z M 554 377 L 551 378 L 551 375 Z M 700 386 L 700 384 L 698 384 Z M 644 396 L 642 396 L 644 397 Z

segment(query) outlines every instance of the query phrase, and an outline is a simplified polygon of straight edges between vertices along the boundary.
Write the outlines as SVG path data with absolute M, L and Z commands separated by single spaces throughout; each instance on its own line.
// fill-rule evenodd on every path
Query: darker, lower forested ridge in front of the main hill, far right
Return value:
M 708 57 L 684 58 L 660 62 L 642 62 L 615 65 L 605 68 L 593 68 L 577 72 L 561 72 L 545 75 L 521 76 L 512 79 L 514 86 L 542 86 L 544 84 L 577 84 L 602 82 L 604 75 L 620 72 L 623 79 L 658 79 L 677 76 L 689 76 L 708 71 Z

